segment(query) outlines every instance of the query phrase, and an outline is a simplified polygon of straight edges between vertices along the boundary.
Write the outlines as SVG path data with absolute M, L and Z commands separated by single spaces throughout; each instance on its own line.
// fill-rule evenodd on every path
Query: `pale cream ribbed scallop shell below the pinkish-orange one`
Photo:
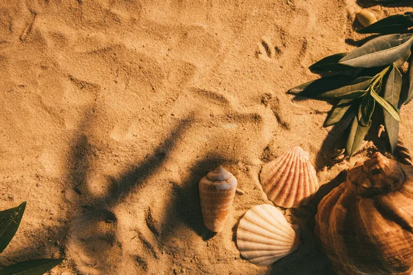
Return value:
M 256 265 L 271 265 L 298 245 L 298 225 L 288 223 L 282 212 L 269 204 L 246 211 L 237 228 L 238 250 Z

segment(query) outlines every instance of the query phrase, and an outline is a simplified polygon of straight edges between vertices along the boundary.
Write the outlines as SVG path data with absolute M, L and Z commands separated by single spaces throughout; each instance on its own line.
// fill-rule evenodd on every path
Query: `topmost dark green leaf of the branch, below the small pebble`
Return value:
M 357 32 L 359 34 L 394 34 L 410 27 L 413 27 L 413 12 L 405 12 L 405 14 L 385 17 L 366 28 L 357 30 Z

